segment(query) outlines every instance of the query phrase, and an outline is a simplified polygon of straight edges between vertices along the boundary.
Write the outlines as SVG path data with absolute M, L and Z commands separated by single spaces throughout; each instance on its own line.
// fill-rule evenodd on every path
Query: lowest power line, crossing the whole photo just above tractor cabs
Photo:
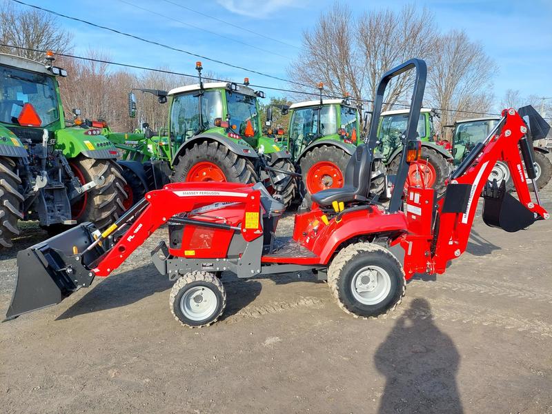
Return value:
M 34 48 L 24 48 L 22 46 L 14 46 L 14 45 L 10 45 L 10 44 L 7 44 L 7 43 L 0 43 L 0 46 L 4 46 L 6 48 L 19 49 L 19 50 L 29 50 L 31 52 L 46 53 L 46 50 L 34 49 Z M 72 58 L 72 59 L 79 59 L 79 60 L 83 60 L 83 61 L 106 63 L 108 65 L 121 66 L 121 67 L 124 67 L 124 68 L 149 70 L 151 72 L 160 72 L 160 73 L 165 73 L 165 74 L 168 74 L 168 75 L 178 75 L 178 76 L 191 77 L 191 78 L 196 78 L 196 79 L 198 78 L 197 75 L 190 74 L 190 73 L 174 72 L 172 70 L 165 70 L 165 69 L 159 69 L 159 68 L 149 68 L 147 66 L 131 65 L 130 63 L 120 63 L 120 62 L 115 62 L 115 61 L 108 61 L 106 59 L 95 59 L 95 58 L 92 58 L 92 57 L 69 55 L 68 53 L 58 53 L 58 52 L 54 52 L 54 55 L 61 56 L 61 57 L 69 57 L 69 58 Z M 205 80 L 208 80 L 208 81 L 228 82 L 228 80 L 226 80 L 226 79 L 217 79 L 217 78 L 210 78 L 210 77 L 204 77 L 204 76 L 202 76 L 201 78 L 205 79 Z M 299 95 L 308 95 L 308 96 L 313 96 L 313 97 L 319 97 L 320 96 L 319 93 L 317 93 L 317 92 L 304 92 L 303 90 L 275 88 L 273 86 L 256 85 L 256 84 L 253 84 L 253 83 L 251 83 L 249 86 L 253 86 L 255 88 L 268 89 L 268 90 L 277 90 L 279 92 L 297 93 Z M 339 97 L 339 96 L 336 96 L 336 95 L 324 95 L 324 94 L 322 95 L 322 97 L 323 98 L 328 98 L 328 99 L 342 99 L 343 98 L 343 97 Z M 355 99 L 355 98 L 351 98 L 351 99 L 353 99 L 355 101 L 373 103 L 373 101 L 371 99 Z M 388 104 L 391 105 L 391 106 L 402 106 L 403 108 L 408 108 L 409 107 L 406 103 L 388 103 Z M 495 113 L 491 113 L 491 112 L 475 112 L 475 111 L 449 109 L 449 108 L 433 108 L 433 109 L 440 110 L 442 112 L 462 112 L 462 113 L 469 113 L 469 114 L 473 114 L 473 115 L 492 115 L 492 116 L 500 117 L 500 114 L 495 114 Z M 552 118 L 544 118 L 544 119 L 552 120 Z

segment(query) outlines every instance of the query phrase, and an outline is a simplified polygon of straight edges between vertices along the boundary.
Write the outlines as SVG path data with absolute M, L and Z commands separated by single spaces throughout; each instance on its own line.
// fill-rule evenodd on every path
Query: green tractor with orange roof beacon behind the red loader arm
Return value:
M 162 103 L 168 101 L 168 128 L 157 135 L 146 129 L 141 139 L 125 138 L 128 159 L 120 161 L 132 193 L 143 194 L 158 188 L 157 181 L 148 181 L 148 164 L 172 168 L 171 180 L 264 182 L 270 193 L 286 206 L 295 198 L 297 184 L 290 153 L 273 137 L 262 132 L 258 97 L 264 92 L 234 82 L 201 81 L 201 63 L 196 66 L 199 83 L 152 93 Z M 142 90 L 150 92 L 151 90 Z M 136 97 L 129 95 L 131 117 L 136 114 Z M 113 139 L 115 141 L 115 138 Z M 120 139 L 119 139 L 120 141 Z M 128 141 L 138 144 L 128 146 Z M 151 168 L 151 175 L 161 167 Z M 159 181 L 162 183 L 162 181 Z M 162 184 L 161 184 L 162 185 Z M 137 199 L 133 197 L 133 199 Z

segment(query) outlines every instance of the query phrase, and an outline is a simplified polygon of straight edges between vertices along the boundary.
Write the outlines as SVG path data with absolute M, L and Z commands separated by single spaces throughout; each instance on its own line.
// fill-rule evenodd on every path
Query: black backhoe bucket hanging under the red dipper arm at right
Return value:
M 535 215 L 513 195 L 506 192 L 504 181 L 487 183 L 483 190 L 483 221 L 487 226 L 498 227 L 514 233 L 531 226 Z

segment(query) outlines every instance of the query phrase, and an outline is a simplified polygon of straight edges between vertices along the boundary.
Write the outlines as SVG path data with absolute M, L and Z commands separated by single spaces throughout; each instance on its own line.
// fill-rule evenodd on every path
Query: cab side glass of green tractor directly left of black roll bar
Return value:
M 334 105 L 300 108 L 293 111 L 291 120 L 290 138 L 293 141 L 306 139 L 311 141 L 324 135 L 337 132 L 337 119 Z

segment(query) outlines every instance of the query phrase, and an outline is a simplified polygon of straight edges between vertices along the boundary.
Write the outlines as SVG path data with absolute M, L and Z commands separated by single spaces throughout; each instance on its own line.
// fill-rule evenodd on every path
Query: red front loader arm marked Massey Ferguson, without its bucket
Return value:
M 221 185 L 224 186 L 224 190 L 221 189 Z M 209 189 L 210 186 L 213 186 L 213 190 Z M 179 213 L 189 213 L 199 206 L 221 201 L 244 203 L 244 217 L 248 212 L 257 213 L 256 217 L 259 217 L 259 197 L 259 191 L 253 190 L 251 186 L 230 183 L 169 184 L 162 190 L 150 191 L 146 194 L 148 206 L 144 208 L 117 243 L 99 259 L 96 267 L 92 268 L 92 272 L 100 277 L 110 275 L 159 226 L 165 224 L 171 217 Z M 193 219 L 197 220 L 197 217 L 194 216 Z M 261 228 L 260 223 L 257 228 Z M 249 242 L 259 237 L 253 230 L 255 229 L 242 229 L 242 236 L 246 241 Z

